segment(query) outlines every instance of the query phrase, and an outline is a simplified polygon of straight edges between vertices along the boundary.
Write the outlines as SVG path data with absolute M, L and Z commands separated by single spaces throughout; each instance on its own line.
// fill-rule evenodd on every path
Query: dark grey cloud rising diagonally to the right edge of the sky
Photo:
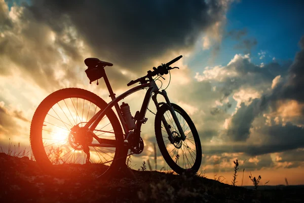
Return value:
M 303 37 L 300 40 L 300 46 L 303 48 Z M 249 128 L 252 126 L 252 122 L 254 118 L 261 114 L 261 112 L 265 110 L 270 110 L 272 112 L 276 112 L 278 108 L 278 101 L 280 100 L 286 100 L 286 99 L 294 99 L 298 101 L 299 103 L 303 103 L 304 100 L 304 94 L 303 94 L 303 88 L 304 88 L 304 49 L 299 51 L 293 63 L 290 65 L 288 69 L 288 75 L 286 82 L 281 82 L 280 85 L 278 85 L 278 80 L 280 77 L 276 77 L 272 82 L 272 91 L 265 93 L 260 99 L 256 99 L 255 102 L 250 104 L 249 106 L 243 106 L 241 109 L 238 110 L 240 113 L 236 113 L 232 120 L 235 122 L 232 122 L 232 125 L 230 126 L 231 129 L 233 129 L 232 132 L 242 132 L 237 133 L 237 135 L 233 135 L 232 133 L 229 133 L 232 138 L 238 138 L 240 140 L 246 140 L 248 138 L 248 132 Z M 300 111 L 301 115 L 304 115 L 304 112 Z M 244 124 L 240 125 L 239 122 L 244 122 Z M 304 123 L 302 123 L 304 124 Z M 289 126 L 290 127 L 290 126 Z M 297 131 L 299 132 L 299 131 Z M 234 139 L 235 140 L 235 139 Z

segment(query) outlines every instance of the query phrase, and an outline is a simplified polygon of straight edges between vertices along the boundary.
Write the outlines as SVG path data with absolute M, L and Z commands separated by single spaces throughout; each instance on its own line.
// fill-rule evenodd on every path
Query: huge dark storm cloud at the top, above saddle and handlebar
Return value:
M 62 16 L 68 16 L 94 56 L 140 70 L 168 51 L 191 49 L 201 32 L 222 20 L 226 8 L 221 1 L 80 0 L 33 1 L 30 9 L 56 31 Z

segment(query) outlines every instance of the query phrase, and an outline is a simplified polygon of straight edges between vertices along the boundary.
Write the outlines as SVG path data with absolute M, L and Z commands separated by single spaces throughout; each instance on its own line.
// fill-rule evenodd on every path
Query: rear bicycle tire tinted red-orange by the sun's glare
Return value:
M 97 107 L 100 109 L 104 109 L 107 106 L 107 103 L 102 98 L 100 98 L 98 95 L 96 95 L 90 91 L 80 89 L 80 88 L 65 88 L 65 89 L 57 90 L 57 91 L 51 93 L 50 95 L 48 95 L 41 102 L 41 104 L 37 107 L 37 109 L 33 115 L 33 118 L 31 121 L 31 126 L 30 126 L 30 137 L 29 138 L 30 138 L 30 145 L 31 145 L 33 156 L 34 156 L 37 164 L 40 166 L 40 168 L 47 174 L 56 175 L 56 168 L 47 155 L 47 152 L 45 150 L 44 143 L 43 143 L 43 138 L 42 138 L 43 126 L 45 125 L 44 123 L 45 123 L 46 116 L 49 115 L 49 111 L 51 109 L 53 109 L 55 104 L 59 104 L 59 101 L 62 101 L 62 99 L 63 99 L 63 101 L 65 103 L 64 99 L 70 98 L 70 100 L 72 101 L 72 98 L 74 98 L 74 97 L 83 98 L 84 106 L 85 106 L 85 99 L 90 101 L 90 107 L 91 107 L 91 103 L 95 104 L 96 109 L 97 109 Z M 96 109 L 95 109 L 95 112 L 96 112 Z M 90 113 L 90 109 L 88 111 L 88 116 L 89 116 L 89 113 Z M 80 116 L 80 115 L 78 115 L 78 110 L 76 111 L 76 114 L 77 114 L 77 116 Z M 113 110 L 110 109 L 106 113 L 105 117 L 107 117 L 108 120 L 110 121 L 110 124 L 113 128 L 113 132 L 115 133 L 115 139 L 119 142 L 119 144 L 118 144 L 118 146 L 116 146 L 115 155 L 113 157 L 113 160 L 112 160 L 110 166 L 107 168 L 107 170 L 104 173 L 100 174 L 100 176 L 99 176 L 100 179 L 104 179 L 104 180 L 109 178 L 112 173 L 115 173 L 118 170 L 119 160 L 117 158 L 122 156 L 122 151 L 123 151 L 122 147 L 123 147 L 123 140 L 124 140 L 121 124 L 120 124 L 117 116 L 113 112 Z M 76 117 L 76 119 L 77 119 L 77 117 Z M 95 149 L 95 147 L 94 147 L 94 149 Z M 97 151 L 96 151 L 96 153 L 97 153 Z M 74 155 L 74 159 L 75 159 L 75 155 Z

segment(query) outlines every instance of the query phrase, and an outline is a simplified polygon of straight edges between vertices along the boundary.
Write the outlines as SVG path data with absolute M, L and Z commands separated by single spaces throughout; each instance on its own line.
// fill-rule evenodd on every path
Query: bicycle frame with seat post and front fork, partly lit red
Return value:
M 104 72 L 104 70 L 103 70 Z M 139 116 L 138 116 L 138 119 L 136 120 L 136 123 L 135 123 L 135 130 L 139 130 L 140 132 L 140 127 L 141 127 L 141 124 L 144 123 L 144 116 L 145 116 L 145 113 L 146 113 L 146 110 L 148 108 L 148 105 L 149 105 L 149 101 L 150 101 L 150 98 L 153 99 L 157 109 L 161 106 L 161 105 L 168 105 L 170 107 L 170 112 L 172 114 L 172 117 L 175 121 L 175 123 L 177 124 L 177 128 L 181 134 L 181 138 L 182 140 L 185 140 L 185 135 L 184 135 L 184 132 L 181 128 L 181 125 L 180 123 L 178 122 L 178 119 L 176 117 L 176 114 L 175 114 L 175 111 L 170 103 L 170 100 L 167 96 L 167 92 L 165 90 L 162 90 L 162 91 L 159 91 L 159 88 L 157 87 L 156 83 L 154 80 L 150 80 L 149 82 L 145 83 L 145 84 L 142 84 L 142 85 L 138 85 L 136 87 L 133 87 L 129 90 L 127 90 L 126 92 L 122 93 L 121 95 L 119 95 L 118 97 L 115 96 L 115 93 L 113 93 L 113 90 L 110 86 L 110 83 L 107 79 L 107 76 L 105 73 L 103 73 L 103 78 L 104 78 L 104 82 L 107 86 L 107 89 L 110 93 L 110 97 L 112 99 L 112 101 L 110 103 L 108 103 L 107 107 L 103 110 L 99 110 L 88 122 L 87 124 L 84 126 L 85 128 L 88 128 L 89 132 L 92 133 L 92 136 L 99 142 L 99 144 L 90 144 L 89 146 L 95 146 L 95 147 L 115 147 L 116 146 L 116 140 L 109 140 L 109 139 L 102 139 L 102 138 L 98 138 L 94 133 L 94 129 L 96 128 L 96 126 L 98 125 L 98 123 L 101 121 L 101 119 L 105 116 L 105 114 L 107 113 L 107 111 L 109 109 L 111 109 L 112 107 L 115 107 L 116 111 L 117 111 L 117 114 L 119 116 L 119 119 L 122 123 L 122 126 L 123 126 L 123 129 L 124 129 L 124 132 L 126 135 L 128 135 L 131 131 L 129 131 L 128 129 L 128 125 L 123 117 L 123 114 L 121 112 L 121 109 L 120 109 L 120 106 L 119 106 L 119 101 L 121 101 L 122 99 L 124 99 L 125 97 L 127 97 L 128 95 L 134 93 L 134 92 L 137 92 L 138 90 L 141 90 L 141 89 L 144 89 L 144 88 L 148 88 L 147 89 L 147 92 L 144 96 L 144 99 L 143 99 L 143 103 L 142 103 L 142 106 L 140 108 L 140 111 L 139 111 Z M 155 93 L 154 95 L 152 95 L 152 93 Z M 164 96 L 165 100 L 166 100 L 166 103 L 162 102 L 162 103 L 158 103 L 157 101 L 157 94 L 161 94 Z M 167 124 L 165 118 L 162 119 L 162 121 L 164 123 Z M 171 129 L 165 125 L 165 128 L 168 132 L 169 135 L 171 135 Z M 139 136 L 138 136 L 138 140 L 139 140 Z M 172 142 L 172 141 L 170 141 Z

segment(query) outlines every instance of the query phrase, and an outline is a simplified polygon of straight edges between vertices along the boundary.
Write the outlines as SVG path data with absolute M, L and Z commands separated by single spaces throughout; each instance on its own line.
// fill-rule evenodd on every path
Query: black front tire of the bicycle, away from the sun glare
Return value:
M 166 147 L 166 144 L 164 141 L 164 134 L 166 134 L 166 136 L 168 135 L 168 133 L 162 129 L 162 117 L 167 114 L 166 112 L 169 111 L 169 106 L 167 105 L 162 105 L 159 110 L 157 111 L 156 113 L 156 116 L 155 116 L 155 134 L 156 134 L 156 140 L 157 140 L 157 144 L 159 146 L 159 149 L 165 159 L 165 161 L 167 162 L 167 164 L 172 168 L 172 170 L 174 172 L 176 172 L 177 174 L 183 174 L 183 173 L 187 173 L 187 172 L 191 172 L 191 173 L 197 173 L 199 168 L 200 168 L 200 165 L 201 165 L 201 162 L 202 162 L 202 147 L 201 147 L 201 142 L 200 142 L 200 138 L 199 138 L 199 134 L 197 132 L 197 129 L 193 123 L 193 121 L 191 120 L 191 118 L 188 116 L 188 114 L 181 108 L 179 107 L 178 105 L 176 104 L 173 104 L 171 103 L 173 108 L 174 108 L 174 111 L 177 112 L 177 117 L 179 118 L 183 118 L 184 121 L 187 123 L 188 127 L 191 129 L 191 132 L 193 134 L 193 138 L 194 138 L 194 142 L 195 142 L 195 148 L 196 148 L 196 156 L 195 156 L 195 161 L 193 163 L 193 165 L 191 167 L 188 167 L 187 168 L 187 163 L 185 163 L 184 165 L 182 165 L 182 167 L 178 164 L 179 163 L 179 158 L 177 160 L 173 160 L 173 157 L 174 157 L 174 154 L 173 154 L 173 157 L 171 157 L 170 155 L 170 152 L 168 152 L 167 150 L 167 147 L 170 146 L 170 145 L 173 145 L 173 144 L 170 144 L 170 141 L 169 141 L 169 144 L 168 142 L 166 144 L 168 144 L 168 146 Z M 167 120 L 166 120 L 167 121 Z M 172 121 L 174 122 L 174 120 L 170 120 L 169 119 L 169 122 L 172 123 Z M 174 128 L 174 123 L 172 123 L 173 126 L 171 126 L 171 128 L 173 127 Z M 177 128 L 176 128 L 177 129 Z M 185 128 L 183 128 L 185 129 Z M 178 130 L 176 130 L 178 132 Z M 188 139 L 188 140 L 187 140 Z M 186 143 L 184 143 L 186 141 Z M 189 138 L 186 138 L 185 141 L 181 141 L 181 147 L 179 149 L 181 149 L 182 151 L 182 148 L 184 148 L 185 150 L 185 147 L 186 149 L 188 149 L 188 143 L 192 143 L 192 142 L 189 142 Z M 177 144 L 176 144 L 177 145 Z M 182 147 L 183 146 L 183 147 Z M 175 145 L 173 145 L 173 147 L 176 148 Z M 172 147 L 171 147 L 172 148 Z M 177 149 L 177 153 L 179 153 L 179 149 Z M 175 152 L 176 152 L 176 149 L 175 149 Z M 174 150 L 174 149 L 173 149 Z M 172 151 L 171 151 L 172 152 Z M 174 153 L 175 153 L 174 152 Z M 189 154 L 191 155 L 191 159 L 193 159 L 194 157 L 192 156 L 192 154 L 194 153 L 193 151 L 190 151 L 188 150 Z M 182 151 L 182 156 L 184 158 L 184 154 L 186 154 L 187 152 L 183 152 Z M 176 155 L 175 155 L 176 156 Z M 178 161 L 178 163 L 177 163 Z M 182 161 L 183 162 L 183 161 Z M 187 161 L 185 161 L 187 162 Z M 183 162 L 184 163 L 184 162 Z M 183 164 L 182 163 L 182 164 Z M 189 164 L 190 165 L 190 164 Z

